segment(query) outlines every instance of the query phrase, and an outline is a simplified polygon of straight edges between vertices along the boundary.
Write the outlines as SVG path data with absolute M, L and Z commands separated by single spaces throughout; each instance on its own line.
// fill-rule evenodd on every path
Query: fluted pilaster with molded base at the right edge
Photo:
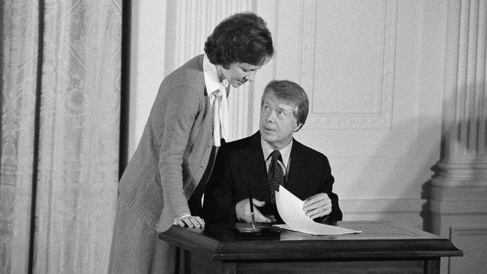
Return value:
M 442 272 L 482 272 L 478 267 L 485 264 L 477 257 L 487 256 L 482 254 L 487 245 L 487 1 L 451 0 L 447 16 L 441 160 L 431 181 L 431 232 L 449 237 L 465 254 L 443 259 Z

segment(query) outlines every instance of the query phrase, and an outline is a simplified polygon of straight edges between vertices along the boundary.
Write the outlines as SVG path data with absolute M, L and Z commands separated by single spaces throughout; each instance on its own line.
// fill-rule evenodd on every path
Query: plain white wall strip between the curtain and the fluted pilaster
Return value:
M 164 75 L 166 21 L 166 1 L 132 3 L 129 159 L 141 139 Z

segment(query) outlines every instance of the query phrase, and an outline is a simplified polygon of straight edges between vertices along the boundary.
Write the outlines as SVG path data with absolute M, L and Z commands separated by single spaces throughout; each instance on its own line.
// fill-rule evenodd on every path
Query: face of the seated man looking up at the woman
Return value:
M 260 135 L 274 149 L 282 149 L 291 142 L 293 132 L 299 129 L 294 117 L 294 105 L 280 101 L 271 90 L 264 95 L 260 108 Z

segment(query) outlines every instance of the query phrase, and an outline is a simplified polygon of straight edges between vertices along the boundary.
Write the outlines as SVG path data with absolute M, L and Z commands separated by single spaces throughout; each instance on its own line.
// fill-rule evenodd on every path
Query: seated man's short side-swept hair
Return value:
M 296 118 L 297 123 L 301 126 L 296 130 L 298 131 L 303 127 L 306 117 L 308 117 L 309 101 L 308 96 L 304 89 L 288 80 L 272 80 L 264 88 L 260 106 L 264 104 L 264 96 L 270 91 L 274 92 L 277 99 L 284 101 L 287 105 L 294 106 L 293 115 Z

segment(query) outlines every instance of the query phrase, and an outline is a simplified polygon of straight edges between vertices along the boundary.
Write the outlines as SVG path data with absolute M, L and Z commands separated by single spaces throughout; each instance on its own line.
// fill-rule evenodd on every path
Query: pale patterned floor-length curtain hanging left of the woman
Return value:
M 121 2 L 0 2 L 1 273 L 107 272 Z

